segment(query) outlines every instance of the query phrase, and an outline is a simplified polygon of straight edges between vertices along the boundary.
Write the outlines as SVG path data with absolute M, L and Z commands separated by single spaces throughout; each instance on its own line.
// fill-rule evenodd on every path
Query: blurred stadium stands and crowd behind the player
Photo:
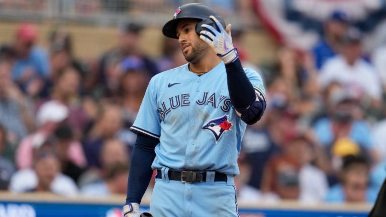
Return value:
M 149 79 L 185 63 L 161 28 L 191 2 L 232 24 L 266 87 L 240 215 L 367 216 L 386 177 L 385 0 L 0 0 L 0 217 L 122 216 L 129 127 Z

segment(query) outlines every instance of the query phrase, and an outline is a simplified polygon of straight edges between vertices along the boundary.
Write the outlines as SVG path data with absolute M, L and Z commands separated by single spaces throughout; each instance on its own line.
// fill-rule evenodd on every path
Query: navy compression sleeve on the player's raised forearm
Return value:
M 252 104 L 256 98 L 255 90 L 241 66 L 240 59 L 226 64 L 225 69 L 233 106 L 236 109 L 242 109 Z

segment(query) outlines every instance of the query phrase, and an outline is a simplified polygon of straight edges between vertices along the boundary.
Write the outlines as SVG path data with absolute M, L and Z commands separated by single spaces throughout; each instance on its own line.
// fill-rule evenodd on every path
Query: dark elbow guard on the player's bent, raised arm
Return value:
M 248 125 L 252 125 L 261 119 L 267 105 L 263 93 L 256 87 L 254 89 L 256 93 L 255 100 L 246 108 L 236 109 L 236 114 Z

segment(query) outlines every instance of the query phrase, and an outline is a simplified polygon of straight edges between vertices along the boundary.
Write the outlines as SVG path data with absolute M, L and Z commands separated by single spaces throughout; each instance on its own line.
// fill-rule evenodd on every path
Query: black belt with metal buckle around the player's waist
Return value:
M 181 181 L 183 183 L 196 183 L 196 182 L 206 182 L 207 181 L 207 172 L 195 172 L 190 170 L 185 171 L 175 171 L 169 170 L 167 172 L 169 180 Z M 155 178 L 162 179 L 162 171 L 157 170 L 157 175 Z M 227 181 L 227 175 L 224 173 L 215 173 L 215 181 Z

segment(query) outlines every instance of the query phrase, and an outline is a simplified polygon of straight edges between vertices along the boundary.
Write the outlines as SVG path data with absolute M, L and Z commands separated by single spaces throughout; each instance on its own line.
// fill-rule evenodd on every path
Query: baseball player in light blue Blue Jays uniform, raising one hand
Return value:
M 124 215 L 140 215 L 155 170 L 155 217 L 238 216 L 233 177 L 246 125 L 265 110 L 261 77 L 242 67 L 231 25 L 209 6 L 179 7 L 162 33 L 178 40 L 188 63 L 147 87 L 131 127 L 138 137 Z

